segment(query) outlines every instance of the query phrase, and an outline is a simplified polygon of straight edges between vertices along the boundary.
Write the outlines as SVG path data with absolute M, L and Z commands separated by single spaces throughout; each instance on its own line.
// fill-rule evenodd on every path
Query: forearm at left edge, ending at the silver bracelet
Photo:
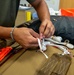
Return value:
M 11 38 L 10 37 L 10 32 L 12 31 L 12 28 L 8 27 L 2 27 L 0 26 L 0 38 Z

